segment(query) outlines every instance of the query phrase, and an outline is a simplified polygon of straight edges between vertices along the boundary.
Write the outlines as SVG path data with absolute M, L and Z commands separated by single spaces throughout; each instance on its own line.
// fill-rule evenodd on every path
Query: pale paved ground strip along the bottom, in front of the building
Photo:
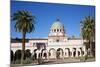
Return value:
M 95 61 L 94 59 L 87 60 L 85 62 L 92 62 Z M 61 63 L 78 63 L 78 62 L 83 62 L 80 61 L 80 59 L 57 59 L 57 60 L 44 60 L 44 63 L 38 64 L 32 63 L 32 64 L 11 64 L 11 67 L 16 67 L 16 66 L 33 66 L 33 65 L 44 65 L 44 64 L 61 64 Z

